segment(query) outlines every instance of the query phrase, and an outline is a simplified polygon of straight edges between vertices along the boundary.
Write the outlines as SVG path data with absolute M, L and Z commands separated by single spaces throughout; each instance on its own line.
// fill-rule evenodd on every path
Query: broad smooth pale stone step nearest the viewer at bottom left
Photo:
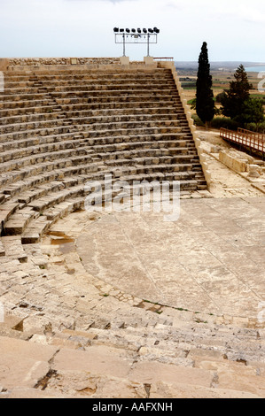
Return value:
M 88 376 L 85 377 L 85 384 L 82 386 L 72 383 L 69 385 L 66 374 L 72 373 L 75 380 L 82 380 L 84 374 L 90 374 L 90 377 L 96 377 L 105 380 L 103 385 L 108 386 L 107 377 L 113 378 L 114 383 L 120 381 L 125 391 L 120 392 L 120 397 L 127 397 L 128 389 L 125 388 L 125 381 L 129 378 L 130 383 L 137 385 L 138 389 L 144 385 L 149 386 L 149 392 L 156 389 L 156 383 L 177 383 L 183 386 L 189 385 L 199 389 L 211 389 L 216 377 L 214 371 L 199 368 L 189 368 L 182 366 L 168 366 L 161 363 L 142 363 L 137 361 L 135 365 L 133 355 L 126 354 L 123 358 L 122 351 L 106 347 L 88 347 L 87 351 L 71 350 L 56 346 L 42 345 L 40 343 L 27 343 L 23 340 L 0 338 L 1 344 L 1 365 L 9 366 L 10 371 L 4 373 L 2 383 L 6 391 L 12 389 L 45 389 L 49 395 L 49 389 L 56 388 L 58 379 L 60 385 L 67 392 L 74 390 L 74 396 L 78 395 L 78 390 L 88 390 L 87 395 L 91 397 L 93 392 L 97 391 L 91 381 L 88 384 Z M 23 361 L 19 359 L 22 354 Z M 50 364 L 52 362 L 52 365 Z M 19 374 L 19 377 L 18 377 Z M 49 375 L 48 375 L 49 374 Z M 97 374 L 97 376 L 96 376 Z M 46 378 L 46 381 L 44 382 Z M 92 380 L 92 379 L 91 379 Z M 102 381 L 103 381 L 102 380 Z M 43 385 L 40 381 L 43 381 Z M 90 385 L 90 389 L 88 386 Z M 44 387 L 43 387 L 44 386 Z M 67 389 L 68 386 L 68 389 Z M 74 389 L 73 389 L 74 388 Z M 255 380 L 254 389 L 258 388 L 258 381 Z M 25 391 L 25 390 L 24 390 Z M 90 391 L 90 392 L 89 392 Z M 127 394 L 126 394 L 127 393 Z M 106 394 L 106 392 L 105 392 Z M 123 396 L 124 395 L 124 396 Z M 146 397 L 146 391 L 145 395 Z

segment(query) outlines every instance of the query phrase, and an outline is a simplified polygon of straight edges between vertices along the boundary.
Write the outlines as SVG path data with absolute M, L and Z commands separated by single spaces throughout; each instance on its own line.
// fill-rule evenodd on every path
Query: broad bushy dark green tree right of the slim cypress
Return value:
M 235 81 L 230 82 L 230 89 L 221 98 L 222 114 L 230 119 L 240 119 L 249 100 L 249 90 L 253 89 L 249 83 L 244 65 L 239 65 L 234 74 Z

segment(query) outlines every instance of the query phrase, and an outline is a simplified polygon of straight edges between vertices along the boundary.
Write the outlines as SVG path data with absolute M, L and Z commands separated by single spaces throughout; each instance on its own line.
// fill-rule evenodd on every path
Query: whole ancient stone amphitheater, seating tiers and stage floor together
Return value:
M 210 173 L 174 65 L 0 65 L 0 397 L 264 397 L 264 322 L 255 312 L 262 258 L 257 281 L 240 274 L 237 291 L 240 257 L 235 269 L 225 266 L 227 280 L 213 274 L 207 287 L 195 283 L 195 266 L 217 267 L 204 257 L 210 231 L 195 212 L 228 233 L 220 210 L 232 210 L 207 190 Z M 84 211 L 86 182 L 105 173 L 130 184 L 180 181 L 183 222 Z M 237 199 L 234 220 L 247 227 L 260 204 L 253 224 L 264 246 L 264 199 L 255 203 Z M 230 258 L 223 243 L 210 242 Z

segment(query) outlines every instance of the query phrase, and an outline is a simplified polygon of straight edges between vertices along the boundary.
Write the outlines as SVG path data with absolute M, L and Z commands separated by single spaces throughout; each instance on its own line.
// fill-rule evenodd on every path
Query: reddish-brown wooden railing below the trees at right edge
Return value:
M 229 140 L 233 143 L 238 143 L 241 146 L 247 147 L 251 150 L 260 151 L 262 156 L 265 156 L 265 140 L 264 136 L 261 138 L 256 137 L 257 134 L 253 132 L 249 132 L 248 130 L 244 130 L 242 128 L 238 128 L 238 131 L 228 130 L 226 128 L 220 129 L 220 136 L 224 140 Z

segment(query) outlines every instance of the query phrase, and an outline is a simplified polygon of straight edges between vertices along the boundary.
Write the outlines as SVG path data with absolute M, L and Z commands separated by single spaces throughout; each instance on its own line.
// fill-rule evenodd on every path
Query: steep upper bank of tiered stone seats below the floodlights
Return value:
M 104 184 L 105 173 L 131 185 L 206 188 L 167 70 L 6 73 L 1 98 L 2 235 L 38 242 L 54 220 L 83 207 L 86 182 Z

